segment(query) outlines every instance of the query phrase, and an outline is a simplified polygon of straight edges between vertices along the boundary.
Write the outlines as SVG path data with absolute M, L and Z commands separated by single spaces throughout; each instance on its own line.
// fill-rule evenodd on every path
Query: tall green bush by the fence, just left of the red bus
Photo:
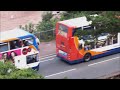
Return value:
M 48 42 L 55 38 L 52 30 L 55 28 L 56 22 L 58 20 L 56 18 L 53 19 L 52 17 L 53 15 L 51 12 L 46 13 L 43 16 L 42 22 L 39 22 L 36 26 L 36 30 L 40 32 L 39 35 L 41 41 Z

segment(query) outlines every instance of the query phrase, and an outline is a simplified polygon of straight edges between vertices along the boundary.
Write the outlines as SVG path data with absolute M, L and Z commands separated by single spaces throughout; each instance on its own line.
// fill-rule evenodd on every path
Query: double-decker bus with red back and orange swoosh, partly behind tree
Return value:
M 120 32 L 111 35 L 100 33 L 97 39 L 92 35 L 75 35 L 77 31 L 94 30 L 92 21 L 79 17 L 56 23 L 56 54 L 69 64 L 89 61 L 105 55 L 120 52 Z M 82 38 L 82 39 L 81 39 Z M 111 41 L 110 41 L 111 40 Z

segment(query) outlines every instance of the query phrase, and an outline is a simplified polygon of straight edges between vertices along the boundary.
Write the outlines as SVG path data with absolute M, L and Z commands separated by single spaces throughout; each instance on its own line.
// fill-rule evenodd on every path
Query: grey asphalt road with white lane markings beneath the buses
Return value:
M 120 71 L 120 53 L 69 65 L 56 55 L 46 56 L 40 62 L 39 74 L 46 79 L 96 79 Z

